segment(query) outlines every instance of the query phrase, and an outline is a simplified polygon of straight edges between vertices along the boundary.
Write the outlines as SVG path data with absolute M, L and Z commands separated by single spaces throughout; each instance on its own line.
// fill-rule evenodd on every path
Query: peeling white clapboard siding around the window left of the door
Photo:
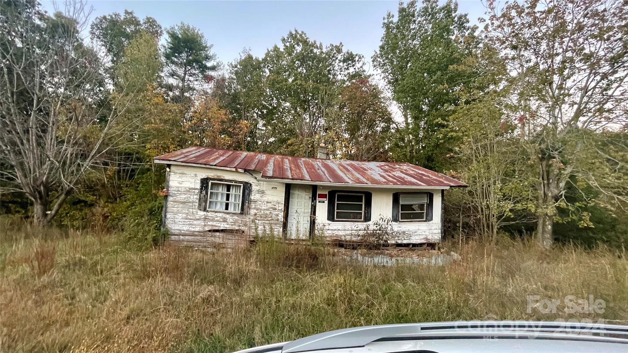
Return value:
M 251 201 L 248 214 L 198 210 L 198 193 L 202 178 L 220 178 L 251 183 Z M 171 165 L 168 185 L 166 229 L 170 240 L 192 246 L 211 243 L 247 241 L 264 231 L 281 235 L 283 222 L 284 183 L 261 182 L 241 171 L 198 166 Z M 229 229 L 242 236 L 224 236 L 208 231 Z M 226 239 L 228 238 L 228 239 Z

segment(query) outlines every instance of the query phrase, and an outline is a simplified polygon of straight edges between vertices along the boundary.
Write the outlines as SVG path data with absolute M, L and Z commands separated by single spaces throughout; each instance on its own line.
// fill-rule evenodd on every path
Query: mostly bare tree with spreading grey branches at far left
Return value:
M 3 192 L 23 192 L 48 224 L 136 119 L 110 99 L 104 65 L 80 36 L 83 3 L 47 16 L 38 4 L 0 3 L 0 172 Z M 119 92 L 122 94 L 122 92 Z M 127 117 L 127 116 L 125 116 Z

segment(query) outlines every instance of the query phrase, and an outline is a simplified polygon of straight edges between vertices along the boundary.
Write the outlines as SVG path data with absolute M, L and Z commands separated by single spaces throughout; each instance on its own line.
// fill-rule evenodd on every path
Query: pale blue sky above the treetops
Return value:
M 42 1 L 52 12 L 51 1 Z M 382 19 L 396 13 L 398 1 L 88 1 L 92 19 L 124 9 L 136 16 L 154 17 L 163 27 L 181 21 L 199 28 L 214 45 L 220 61 L 227 63 L 244 48 L 263 56 L 266 48 L 281 41 L 288 31 L 298 29 L 327 45 L 342 42 L 371 62 L 382 36 Z M 480 1 L 459 1 L 472 23 L 484 16 Z

